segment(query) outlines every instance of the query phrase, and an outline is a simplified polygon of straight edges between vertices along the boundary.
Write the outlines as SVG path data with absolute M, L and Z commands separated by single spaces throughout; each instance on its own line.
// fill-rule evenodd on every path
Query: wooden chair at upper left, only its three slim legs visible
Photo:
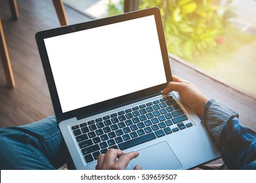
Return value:
M 62 0 L 52 0 L 52 3 L 54 5 L 54 8 L 56 10 L 58 19 L 60 21 L 60 25 L 67 25 L 67 16 L 65 14 L 64 4 Z M 16 0 L 9 0 L 9 7 L 10 12 L 12 14 L 12 19 L 18 20 L 19 18 L 19 12 L 18 12 L 18 6 L 16 3 Z M 1 23 L 0 18 L 0 56 L 3 63 L 3 70 L 5 72 L 5 78 L 7 80 L 7 87 L 8 88 L 14 88 L 15 87 L 15 81 L 14 76 L 12 72 L 12 66 L 10 63 L 10 57 L 9 52 L 7 49 L 7 44 L 5 41 L 5 34 L 3 32 L 3 25 Z

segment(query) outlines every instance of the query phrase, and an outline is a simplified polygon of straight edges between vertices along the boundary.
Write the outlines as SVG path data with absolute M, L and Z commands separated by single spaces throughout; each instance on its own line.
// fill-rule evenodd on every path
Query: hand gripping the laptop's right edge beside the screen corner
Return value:
M 172 76 L 172 82 L 166 86 L 162 93 L 164 95 L 176 91 L 179 92 L 181 100 L 196 112 L 199 118 L 204 113 L 204 104 L 209 100 L 203 93 L 201 93 L 194 84 L 183 80 L 177 76 Z

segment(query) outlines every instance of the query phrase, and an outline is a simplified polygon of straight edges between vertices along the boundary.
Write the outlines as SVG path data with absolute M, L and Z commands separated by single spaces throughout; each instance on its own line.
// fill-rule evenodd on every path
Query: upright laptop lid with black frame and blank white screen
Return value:
M 160 91 L 172 79 L 159 8 L 35 35 L 58 122 Z

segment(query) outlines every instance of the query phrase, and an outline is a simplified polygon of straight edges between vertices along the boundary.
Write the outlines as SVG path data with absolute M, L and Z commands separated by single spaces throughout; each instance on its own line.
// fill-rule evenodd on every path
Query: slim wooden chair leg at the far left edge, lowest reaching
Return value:
M 0 56 L 3 63 L 3 70 L 5 71 L 5 78 L 7 79 L 8 88 L 14 88 L 14 76 L 12 73 L 12 65 L 10 64 L 10 57 L 7 50 L 5 35 L 3 33 L 3 26 L 0 18 Z

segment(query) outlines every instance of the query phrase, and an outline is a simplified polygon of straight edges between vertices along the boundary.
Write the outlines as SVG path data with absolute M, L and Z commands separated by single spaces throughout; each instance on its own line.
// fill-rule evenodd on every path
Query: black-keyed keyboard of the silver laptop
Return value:
M 172 96 L 71 127 L 87 163 L 192 126 Z

